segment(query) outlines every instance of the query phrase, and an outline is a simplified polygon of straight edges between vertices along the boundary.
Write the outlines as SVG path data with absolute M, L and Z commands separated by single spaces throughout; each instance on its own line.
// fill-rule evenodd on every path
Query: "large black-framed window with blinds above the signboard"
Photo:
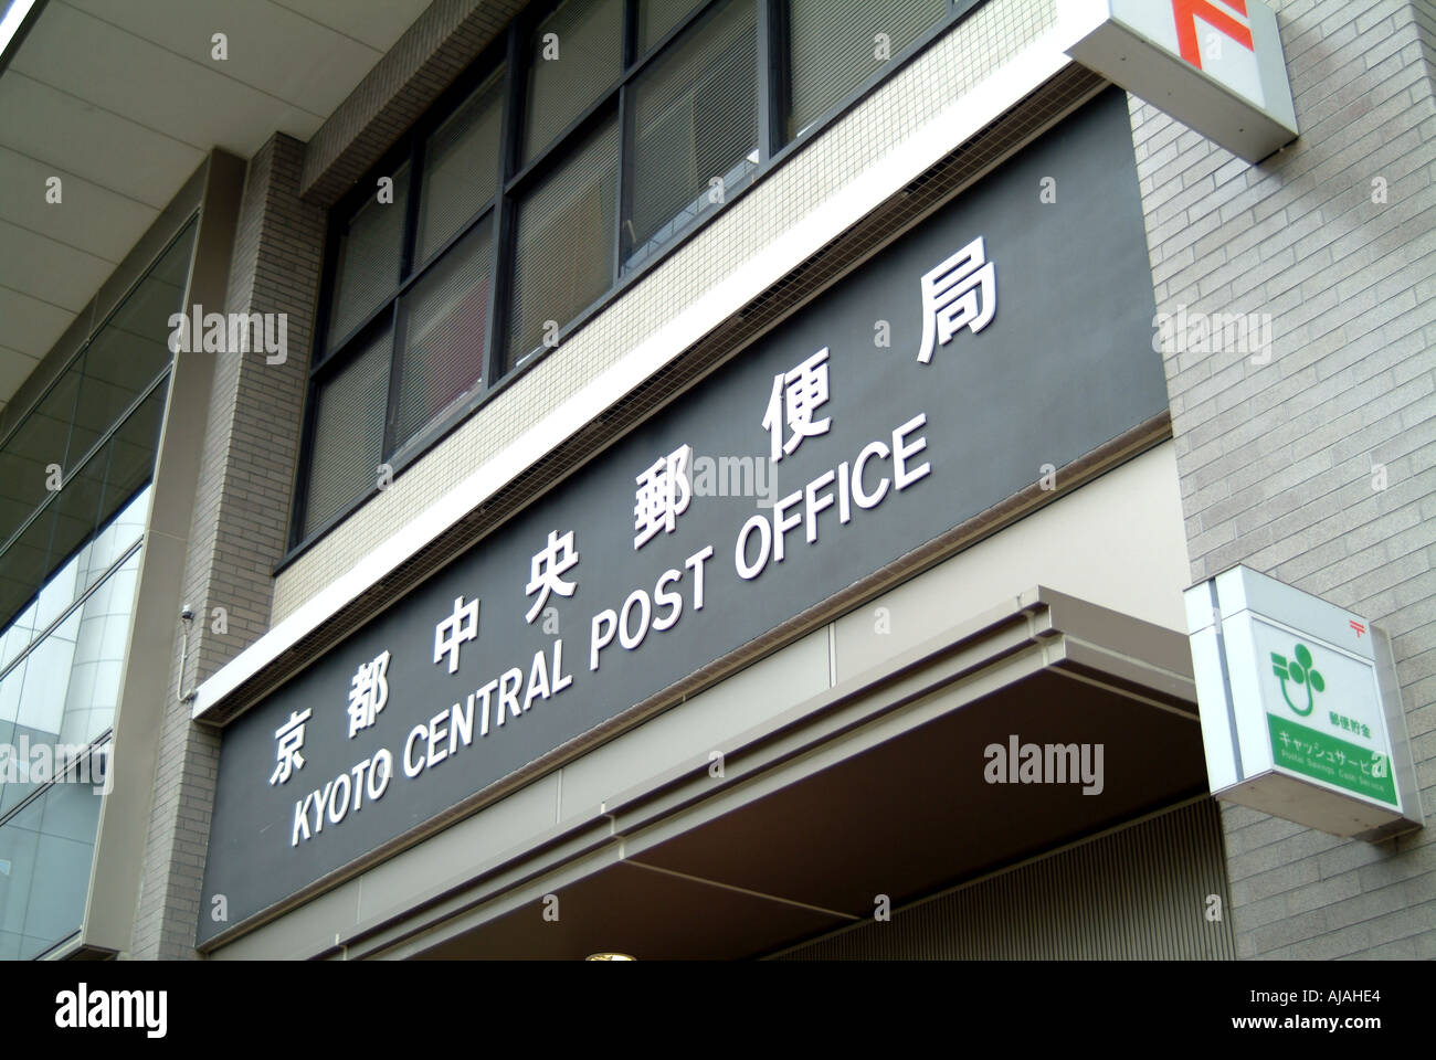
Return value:
M 982 1 L 544 0 L 520 14 L 333 211 L 292 546 L 893 66 L 879 34 L 902 57 Z M 131 339 L 109 336 L 93 376 L 56 389 L 66 421 L 76 402 L 82 422 L 126 399 L 126 365 L 151 356 Z M 17 461 L 0 452 L 0 526 L 24 508 L 3 487 Z

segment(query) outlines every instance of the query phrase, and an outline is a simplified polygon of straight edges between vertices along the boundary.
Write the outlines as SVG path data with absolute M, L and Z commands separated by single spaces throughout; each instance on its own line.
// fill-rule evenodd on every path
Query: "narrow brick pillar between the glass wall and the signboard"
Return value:
M 185 564 L 185 600 L 195 620 L 184 672 L 175 659 L 161 727 L 135 957 L 194 955 L 218 737 L 190 721 L 181 688 L 192 689 L 269 628 L 325 236 L 323 211 L 299 198 L 303 151 L 276 135 L 250 161 L 224 306 L 286 313 L 286 361 L 267 363 L 263 352 L 190 355 L 218 358 L 204 438 L 197 440 L 202 462 Z M 223 633 L 215 632 L 215 608 L 225 612 Z

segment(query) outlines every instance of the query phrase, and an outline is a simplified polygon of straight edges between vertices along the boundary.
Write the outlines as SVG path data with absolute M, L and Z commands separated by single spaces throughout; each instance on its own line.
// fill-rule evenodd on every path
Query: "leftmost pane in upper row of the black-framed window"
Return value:
M 404 214 L 409 200 L 409 167 L 393 174 L 393 201 L 373 194 L 355 211 L 339 237 L 329 349 L 337 346 L 399 286 L 404 254 Z

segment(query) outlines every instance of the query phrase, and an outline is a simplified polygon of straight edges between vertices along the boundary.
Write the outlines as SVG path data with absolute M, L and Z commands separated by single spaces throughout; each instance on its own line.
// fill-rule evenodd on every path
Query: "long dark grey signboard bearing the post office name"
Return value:
M 1152 319 L 1113 90 L 236 720 L 200 939 L 1162 412 Z

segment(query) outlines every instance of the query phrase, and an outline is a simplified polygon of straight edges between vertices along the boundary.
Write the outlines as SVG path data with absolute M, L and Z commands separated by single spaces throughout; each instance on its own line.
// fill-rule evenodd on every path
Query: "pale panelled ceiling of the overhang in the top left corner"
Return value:
M 49 0 L 0 75 L 0 409 L 213 148 L 307 141 L 428 4 Z

